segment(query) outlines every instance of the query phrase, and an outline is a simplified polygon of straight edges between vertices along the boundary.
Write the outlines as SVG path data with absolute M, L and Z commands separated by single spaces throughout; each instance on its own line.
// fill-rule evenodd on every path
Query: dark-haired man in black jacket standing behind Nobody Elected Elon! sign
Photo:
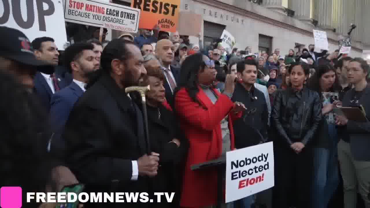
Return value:
M 255 88 L 258 64 L 255 60 L 241 61 L 236 65 L 238 82 L 236 82 L 232 101 L 243 103 L 246 111 L 242 118 L 236 119 L 233 124 L 235 134 L 235 148 L 241 149 L 267 140 L 268 108 L 265 95 Z M 246 137 L 248 132 L 248 137 Z M 240 207 L 250 208 L 253 204 L 253 195 L 240 199 Z

